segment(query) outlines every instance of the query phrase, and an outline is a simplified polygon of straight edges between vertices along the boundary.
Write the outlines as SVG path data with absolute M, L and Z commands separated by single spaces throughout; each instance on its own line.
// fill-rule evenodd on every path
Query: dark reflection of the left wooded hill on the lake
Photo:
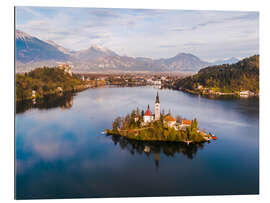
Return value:
M 59 95 L 49 95 L 43 99 L 16 102 L 16 113 L 23 113 L 31 108 L 50 109 L 61 107 L 61 109 L 69 109 L 73 105 L 73 96 L 75 96 L 74 93 L 68 92 Z

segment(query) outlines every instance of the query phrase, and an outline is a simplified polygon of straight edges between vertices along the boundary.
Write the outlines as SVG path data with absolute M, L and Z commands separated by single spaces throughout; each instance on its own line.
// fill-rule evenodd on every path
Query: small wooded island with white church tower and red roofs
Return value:
M 154 115 L 149 105 L 146 111 L 140 111 L 137 108 L 125 117 L 117 117 L 112 122 L 112 129 L 106 129 L 106 134 L 141 141 L 185 142 L 187 144 L 216 139 L 211 133 L 199 129 L 196 118 L 187 120 L 179 115 L 174 118 L 170 111 L 167 114 L 161 112 L 158 93 Z

